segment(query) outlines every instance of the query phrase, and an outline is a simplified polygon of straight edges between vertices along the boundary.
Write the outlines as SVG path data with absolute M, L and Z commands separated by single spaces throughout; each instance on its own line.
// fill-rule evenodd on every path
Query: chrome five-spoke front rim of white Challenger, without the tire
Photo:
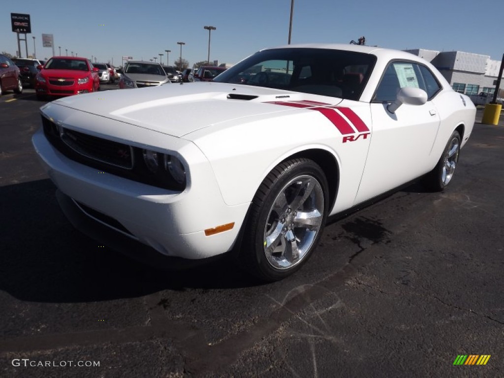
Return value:
M 283 186 L 264 228 L 264 253 L 271 266 L 288 269 L 303 260 L 321 229 L 324 207 L 315 177 L 300 175 Z

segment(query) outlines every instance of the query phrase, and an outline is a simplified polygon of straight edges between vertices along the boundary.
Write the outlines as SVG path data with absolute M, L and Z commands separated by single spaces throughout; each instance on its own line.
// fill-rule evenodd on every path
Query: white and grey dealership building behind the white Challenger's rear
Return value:
M 405 50 L 418 55 L 439 70 L 452 88 L 468 96 L 480 92 L 494 93 L 500 61 L 488 55 L 463 51 Z M 504 80 L 500 83 L 499 97 L 504 97 Z

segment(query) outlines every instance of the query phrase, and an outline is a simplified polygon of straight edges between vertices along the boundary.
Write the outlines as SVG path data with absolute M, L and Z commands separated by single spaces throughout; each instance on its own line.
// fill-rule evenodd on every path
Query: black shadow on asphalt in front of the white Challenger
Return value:
M 160 290 L 239 288 L 257 283 L 223 258 L 182 271 L 138 264 L 77 231 L 49 179 L 0 187 L 0 290 L 27 301 L 87 302 Z

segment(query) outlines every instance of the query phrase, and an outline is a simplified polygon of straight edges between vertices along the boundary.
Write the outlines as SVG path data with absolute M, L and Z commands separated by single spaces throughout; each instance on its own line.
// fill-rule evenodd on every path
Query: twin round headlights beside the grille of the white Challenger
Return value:
M 163 183 L 163 187 L 184 190 L 186 173 L 182 162 L 173 155 L 152 150 L 142 150 L 147 172 Z

